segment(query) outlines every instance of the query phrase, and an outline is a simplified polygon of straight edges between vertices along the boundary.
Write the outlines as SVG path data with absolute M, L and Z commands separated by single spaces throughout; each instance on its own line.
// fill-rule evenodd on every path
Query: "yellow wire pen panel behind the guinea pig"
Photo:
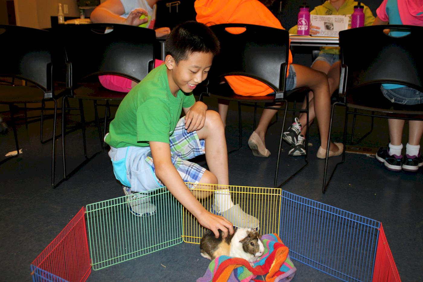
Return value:
M 238 204 L 245 213 L 258 219 L 260 234 L 276 233 L 279 236 L 282 189 L 189 182 L 186 184 L 203 207 L 210 212 L 216 210 L 213 207 L 214 200 L 216 197 L 221 197 L 222 189 L 228 189 L 232 202 L 235 205 Z M 228 220 L 234 222 L 234 218 L 228 218 Z M 184 207 L 182 207 L 182 221 L 184 242 L 199 244 L 205 228 Z

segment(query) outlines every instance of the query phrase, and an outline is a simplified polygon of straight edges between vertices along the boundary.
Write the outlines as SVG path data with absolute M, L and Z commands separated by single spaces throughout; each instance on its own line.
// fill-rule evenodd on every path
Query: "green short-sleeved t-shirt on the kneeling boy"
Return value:
M 195 103 L 194 95 L 169 89 L 166 65 L 153 69 L 125 96 L 110 122 L 106 143 L 115 148 L 147 147 L 149 141 L 169 143 L 182 108 Z

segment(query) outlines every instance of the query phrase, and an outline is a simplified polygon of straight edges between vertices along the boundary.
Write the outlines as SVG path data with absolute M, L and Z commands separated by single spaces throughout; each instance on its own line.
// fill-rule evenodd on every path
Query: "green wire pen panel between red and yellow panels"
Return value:
M 151 202 L 156 213 L 137 216 Z M 132 194 L 86 207 L 93 270 L 182 243 L 182 206 L 166 188 Z M 139 214 L 139 213 L 138 213 Z

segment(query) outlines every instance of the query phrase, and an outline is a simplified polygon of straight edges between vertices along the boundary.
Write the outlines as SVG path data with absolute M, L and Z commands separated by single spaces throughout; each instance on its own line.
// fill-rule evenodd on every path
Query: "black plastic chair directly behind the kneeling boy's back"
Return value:
M 106 29 L 111 31 L 105 32 Z M 98 75 L 120 75 L 135 82 L 140 82 L 154 65 L 154 46 L 158 44 L 155 34 L 154 30 L 147 28 L 118 24 L 76 25 L 67 28 L 66 41 L 63 42 L 63 46 L 66 52 L 66 86 L 69 93 L 63 98 L 62 105 L 63 180 L 67 180 L 101 152 L 97 152 L 89 158 L 87 156 L 82 100 L 93 101 L 99 139 L 103 151 L 107 111 L 110 113 L 109 107 L 112 106 L 109 101 L 121 101 L 126 96 L 126 93 L 104 88 L 98 80 Z M 81 43 L 86 47 L 81 47 Z M 69 98 L 78 99 L 79 108 L 66 108 L 65 103 Z M 97 101 L 99 100 L 106 102 L 104 134 L 102 134 L 97 113 Z M 80 111 L 85 155 L 85 160 L 69 174 L 66 173 L 64 135 L 64 130 L 66 130 L 64 124 L 66 110 Z

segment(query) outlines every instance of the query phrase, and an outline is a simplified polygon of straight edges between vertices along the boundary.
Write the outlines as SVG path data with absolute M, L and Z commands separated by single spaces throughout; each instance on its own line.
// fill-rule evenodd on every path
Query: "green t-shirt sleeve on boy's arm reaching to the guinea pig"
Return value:
M 137 109 L 137 141 L 169 143 L 170 109 L 160 99 L 151 98 Z

